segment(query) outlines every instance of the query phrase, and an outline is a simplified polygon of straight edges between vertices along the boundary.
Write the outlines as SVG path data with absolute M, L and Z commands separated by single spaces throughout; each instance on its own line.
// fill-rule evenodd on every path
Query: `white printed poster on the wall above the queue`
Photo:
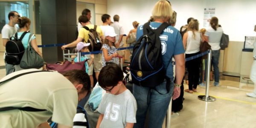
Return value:
M 215 16 L 215 8 L 204 8 L 204 28 L 209 27 L 210 20 Z

